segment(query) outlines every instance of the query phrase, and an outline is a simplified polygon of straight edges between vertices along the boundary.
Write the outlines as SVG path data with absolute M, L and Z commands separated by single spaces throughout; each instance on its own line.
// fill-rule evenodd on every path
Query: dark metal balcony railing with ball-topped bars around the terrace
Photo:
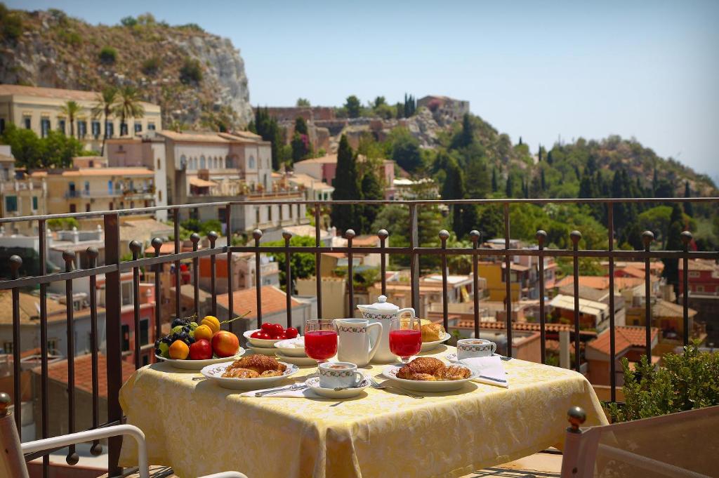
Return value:
M 267 193 L 267 196 L 280 196 L 277 193 Z M 259 200 L 258 200 L 259 199 Z M 477 293 L 479 289 L 480 276 L 478 273 L 478 263 L 480 257 L 503 257 L 505 262 L 506 270 L 510 270 L 510 264 L 513 256 L 531 256 L 538 258 L 538 277 L 544 277 L 544 259 L 546 257 L 569 257 L 573 262 L 574 276 L 574 349 L 580 351 L 580 302 L 579 302 L 579 261 L 582 257 L 596 257 L 596 258 L 607 258 L 608 267 L 608 282 L 609 289 L 614 290 L 614 262 L 615 259 L 627 260 L 627 259 L 642 259 L 644 260 L 645 272 L 646 272 L 646 284 L 645 293 L 646 296 L 651 295 L 651 273 L 650 273 L 650 260 L 659 258 L 672 258 L 680 259 L 683 274 L 683 290 L 688 288 L 688 261 L 689 259 L 719 259 L 719 252 L 694 252 L 689 250 L 689 244 L 692 239 L 689 232 L 682 234 L 682 241 L 684 243 L 683 250 L 681 251 L 663 251 L 663 250 L 651 250 L 652 236 L 651 233 L 644 234 L 644 250 L 642 251 L 626 251 L 615 249 L 615 229 L 614 229 L 614 206 L 621 203 L 712 203 L 715 206 L 719 205 L 719 198 L 612 198 L 612 199 L 503 199 L 503 200 L 456 200 L 456 201 L 303 201 L 303 200 L 262 200 L 262 198 L 253 199 L 252 201 L 231 201 L 221 203 L 198 203 L 188 204 L 182 206 L 156 206 L 151 208 L 135 208 L 122 211 L 102 211 L 102 212 L 86 212 L 86 213 L 66 213 L 66 214 L 53 214 L 45 216 L 24 216 L 24 217 L 10 217 L 0 219 L 0 225 L 21 222 L 21 221 L 35 221 L 37 222 L 38 240 L 39 240 L 39 270 L 40 273 L 34 277 L 19 277 L 19 271 L 22 267 L 22 260 L 14 256 L 10 259 L 9 268 L 12 271 L 12 279 L 0 282 L 0 290 L 12 290 L 12 316 L 13 316 L 13 355 L 14 355 L 14 403 L 21 402 L 20 395 L 20 353 L 22 351 L 22 343 L 20 339 L 20 315 L 19 315 L 19 292 L 22 288 L 40 286 L 40 421 L 42 437 L 48 436 L 48 420 L 50 418 L 49 405 L 48 405 L 48 359 L 50 357 L 50 350 L 48 349 L 48 337 L 47 337 L 47 288 L 51 282 L 65 282 L 65 295 L 68 298 L 67 303 L 67 341 L 68 341 L 68 433 L 75 431 L 75 372 L 74 372 L 74 324 L 73 315 L 73 280 L 79 278 L 87 278 L 89 281 L 89 298 L 90 298 L 90 311 L 91 311 L 91 344 L 93 348 L 92 354 L 92 428 L 100 426 L 109 426 L 121 423 L 123 420 L 122 408 L 119 405 L 119 390 L 122 387 L 122 357 L 123 352 L 121 349 L 121 280 L 120 275 L 122 272 L 132 271 L 133 281 L 132 285 L 134 288 L 134 301 L 133 301 L 133 313 L 134 313 L 134 330 L 139 331 L 139 273 L 140 269 L 155 270 L 160 272 L 162 265 L 174 264 L 175 270 L 180 270 L 180 261 L 191 260 L 193 262 L 193 291 L 194 291 L 194 311 L 198 312 L 199 303 L 199 272 L 198 272 L 198 261 L 200 257 L 210 257 L 211 259 L 211 286 L 209 293 L 211 294 L 211 312 L 216 315 L 217 312 L 217 293 L 216 293 L 216 257 L 219 254 L 226 254 L 227 263 L 232 264 L 232 254 L 239 252 L 252 252 L 255 254 L 255 285 L 256 285 L 256 311 L 257 311 L 257 322 L 258 325 L 262 323 L 262 273 L 265 269 L 260 263 L 260 254 L 268 252 L 282 252 L 285 254 L 285 277 L 292 277 L 290 257 L 292 254 L 300 252 L 309 252 L 315 255 L 316 259 L 316 276 L 321 277 L 321 254 L 323 252 L 342 252 L 348 256 L 348 270 L 347 270 L 347 300 L 349 310 L 354 310 L 354 275 L 352 271 L 353 254 L 380 254 L 380 283 L 383 294 L 387 292 L 387 277 L 386 260 L 388 254 L 401 254 L 410 258 L 410 279 L 409 284 L 411 285 L 411 303 L 413 308 L 417 309 L 420 304 L 419 295 L 419 259 L 423 256 L 439 256 L 441 259 L 441 277 L 442 277 L 442 305 L 441 311 L 444 321 L 444 327 L 449 328 L 449 313 L 448 313 L 448 283 L 447 283 L 447 258 L 456 254 L 464 254 L 472 257 L 472 300 L 474 305 L 474 332 L 475 336 L 480 334 L 480 293 Z M 345 237 L 347 238 L 347 247 L 325 247 L 321 242 L 321 211 L 326 211 L 326 208 L 333 205 L 340 204 L 377 204 L 377 205 L 401 205 L 408 208 L 409 212 L 409 244 L 405 247 L 392 247 L 388 246 L 388 232 L 385 229 L 381 229 L 377 232 L 378 239 L 380 240 L 380 247 L 355 247 L 352 244 L 354 237 L 354 231 L 351 229 L 346 231 Z M 588 204 L 602 204 L 606 207 L 607 211 L 607 229 L 608 229 L 608 247 L 606 249 L 599 250 L 580 250 L 579 243 L 581 239 L 580 231 L 572 231 L 572 248 L 571 249 L 547 249 L 546 248 L 546 232 L 539 230 L 536 232 L 536 240 L 539 247 L 536 249 L 512 249 L 510 248 L 510 205 L 513 204 L 536 204 L 546 205 L 553 203 L 588 203 Z M 226 224 L 232 224 L 232 209 L 234 207 L 241 207 L 246 205 L 295 205 L 295 204 L 306 204 L 311 206 L 314 211 L 314 224 L 315 224 L 315 245 L 314 247 L 296 247 L 290 246 L 290 238 L 292 234 L 289 232 L 283 232 L 284 245 L 282 247 L 267 247 L 260 244 L 262 238 L 262 231 L 259 229 L 253 231 L 252 245 L 246 245 L 242 247 L 235 246 L 223 246 L 216 247 L 217 235 L 214 233 L 209 234 L 209 247 L 206 249 L 199 249 L 198 243 L 201 238 L 198 234 L 191 236 L 191 243 L 193 244 L 191 252 L 180 252 L 180 212 L 183 210 L 191 210 L 193 208 L 212 207 L 212 208 L 224 208 L 224 219 Z M 480 248 L 481 236 L 478 231 L 472 231 L 470 238 L 472 242 L 471 247 L 461 248 L 449 248 L 447 247 L 447 239 L 449 239 L 449 232 L 447 231 L 436 231 L 439 234 L 439 247 L 421 247 L 419 244 L 419 224 L 418 224 L 418 213 L 419 209 L 426 206 L 436 205 L 457 205 L 457 204 L 480 204 L 480 205 L 500 205 L 503 207 L 503 219 L 504 219 L 504 243 L 505 249 L 482 249 Z M 127 262 L 121 262 L 120 257 L 127 254 L 128 251 L 122 250 L 120 247 L 120 234 L 119 225 L 120 216 L 127 216 L 132 214 L 147 214 L 160 210 L 168 210 L 173 219 L 174 223 L 174 250 L 173 254 L 160 255 L 160 248 L 162 247 L 162 240 L 153 239 L 152 247 L 154 248 L 155 254 L 152 257 L 140 258 L 140 250 L 142 244 L 133 241 L 129 244 L 130 251 L 132 252 L 132 260 Z M 65 252 L 63 259 L 65 260 L 65 271 L 58 273 L 47 273 L 47 221 L 50 219 L 63 219 L 63 218 L 101 218 L 104 223 L 104 234 L 105 234 L 105 250 L 104 258 L 105 265 L 97 265 L 97 258 L 99 252 L 97 249 L 90 247 L 87 250 L 87 255 L 90 261 L 91 267 L 84 270 L 73 270 L 73 261 L 75 259 L 74 252 Z M 481 224 L 477 224 L 478 227 Z M 238 231 L 244 232 L 244 231 Z M 232 236 L 232 228 L 229 227 L 226 234 Z M 230 243 L 231 244 L 231 243 Z M 2 265 L 0 267 L 7 267 Z M 99 392 L 98 392 L 98 324 L 97 324 L 97 276 L 104 274 L 105 282 L 105 313 L 106 313 L 106 374 L 107 374 L 107 422 L 100 423 L 99 416 Z M 161 320 L 160 320 L 160 309 L 162 304 L 161 300 L 161 288 L 160 288 L 160 273 L 154 275 L 155 280 L 155 337 L 161 336 Z M 180 316 L 182 311 L 180 298 L 180 274 L 174 274 L 173 280 L 175 282 L 175 316 Z M 228 301 L 229 301 L 229 316 L 234 317 L 234 303 L 233 303 L 233 285 L 232 285 L 232 274 L 227 277 L 227 287 L 229 290 Z M 505 286 L 506 297 L 512 297 L 512 282 L 503 282 Z M 544 290 L 544 281 L 539 281 L 539 324 L 541 330 L 541 361 L 546 362 L 546 304 Z M 322 316 L 322 290 L 321 280 L 316 281 L 316 298 L 317 298 L 317 314 L 319 318 Z M 292 290 L 288 288 L 286 294 L 286 326 L 293 325 L 292 317 Z M 688 297 L 683 295 L 683 320 L 684 320 L 684 336 L 682 337 L 684 344 L 688 344 L 689 341 L 689 314 L 688 314 Z M 609 295 L 609 328 L 612 332 L 610 334 L 610 355 L 613 359 L 609 360 L 608 367 L 610 368 L 610 381 L 611 381 L 611 399 L 615 401 L 615 389 L 616 389 L 616 371 L 615 371 L 615 297 L 614 294 Z M 646 317 L 650 320 L 646 321 L 646 354 L 651 356 L 651 301 L 646 301 Z M 508 355 L 512 354 L 512 300 L 505 300 L 505 319 L 506 319 L 506 336 L 507 336 L 507 347 Z M 295 324 L 301 326 L 302 324 Z M 234 327 L 234 323 L 229 324 L 230 330 Z M 136 368 L 141 366 L 140 363 L 140 341 L 134 341 L 134 365 Z M 587 362 L 582 363 L 582 354 L 574 354 L 574 368 L 581 372 L 587 367 Z M 15 413 L 17 420 L 17 426 L 20 428 L 20 414 Z M 118 438 L 109 439 L 109 472 L 111 476 L 116 476 L 121 472 L 117 467 L 119 459 L 119 451 L 122 441 Z M 99 443 L 93 443 L 93 451 L 99 453 L 101 446 Z M 49 460 L 47 458 L 47 451 L 44 452 L 43 466 L 47 473 L 47 466 Z M 29 454 L 26 459 L 35 459 L 40 454 Z M 75 464 L 78 461 L 78 455 L 75 454 L 74 447 L 70 447 L 68 451 L 67 461 L 69 464 Z

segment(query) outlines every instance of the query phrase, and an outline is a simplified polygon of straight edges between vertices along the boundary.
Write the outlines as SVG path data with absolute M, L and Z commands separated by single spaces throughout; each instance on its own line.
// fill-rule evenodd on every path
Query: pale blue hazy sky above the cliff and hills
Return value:
M 241 51 L 253 105 L 444 94 L 532 150 L 620 134 L 719 178 L 719 1 L 6 3 L 200 24 Z

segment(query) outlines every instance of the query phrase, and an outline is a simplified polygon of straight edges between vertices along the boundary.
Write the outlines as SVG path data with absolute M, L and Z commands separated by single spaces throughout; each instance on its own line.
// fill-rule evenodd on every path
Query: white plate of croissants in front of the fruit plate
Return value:
M 296 374 L 298 367 L 279 362 L 267 355 L 249 355 L 234 362 L 208 365 L 201 374 L 224 388 L 255 390 L 272 387 L 276 382 Z

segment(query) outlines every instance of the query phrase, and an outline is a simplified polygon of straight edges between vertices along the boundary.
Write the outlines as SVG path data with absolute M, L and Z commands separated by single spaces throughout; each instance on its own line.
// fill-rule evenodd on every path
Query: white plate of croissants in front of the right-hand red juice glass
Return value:
M 417 357 L 406 365 L 392 364 L 382 374 L 408 390 L 449 392 L 477 378 L 467 367 L 447 365 L 434 357 Z

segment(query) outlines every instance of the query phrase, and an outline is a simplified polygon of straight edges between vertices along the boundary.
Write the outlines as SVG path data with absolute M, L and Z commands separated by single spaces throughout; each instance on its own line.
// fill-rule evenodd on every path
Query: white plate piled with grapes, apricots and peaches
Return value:
M 237 359 L 244 354 L 239 339 L 232 332 L 220 330 L 228 322 L 213 316 L 206 316 L 200 323 L 195 317 L 175 318 L 170 333 L 155 342 L 155 357 L 189 370 Z

